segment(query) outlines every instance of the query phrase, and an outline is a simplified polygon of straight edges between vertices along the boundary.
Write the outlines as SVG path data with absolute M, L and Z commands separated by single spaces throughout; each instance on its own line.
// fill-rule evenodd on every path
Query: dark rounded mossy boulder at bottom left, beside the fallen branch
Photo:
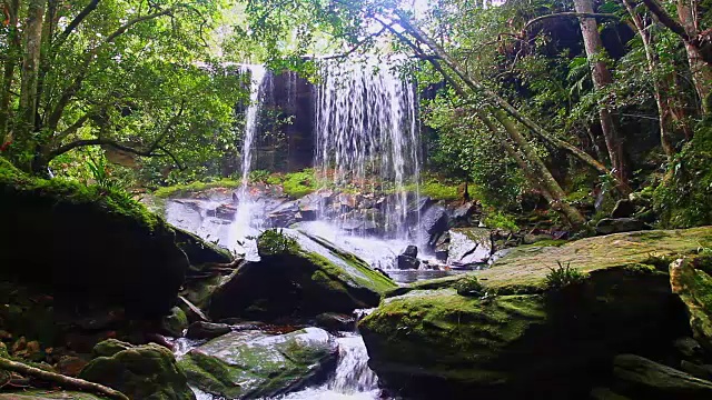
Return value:
M 136 400 L 195 400 L 186 374 L 170 350 L 154 343 L 126 348 L 126 343 L 118 341 L 101 342 L 97 348 L 95 353 L 112 356 L 95 358 L 79 378 L 113 388 Z

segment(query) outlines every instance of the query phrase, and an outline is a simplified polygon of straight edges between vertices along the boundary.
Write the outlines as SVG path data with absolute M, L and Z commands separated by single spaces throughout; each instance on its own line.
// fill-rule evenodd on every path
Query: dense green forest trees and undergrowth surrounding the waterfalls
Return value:
M 83 182 L 235 186 L 246 82 L 231 62 L 318 81 L 310 56 L 370 53 L 417 78 L 427 194 L 468 182 L 492 209 L 543 199 L 580 226 L 596 198 L 642 191 L 663 224 L 710 223 L 709 7 L 4 0 L 0 149 Z M 310 170 L 270 172 L 251 178 L 315 189 Z

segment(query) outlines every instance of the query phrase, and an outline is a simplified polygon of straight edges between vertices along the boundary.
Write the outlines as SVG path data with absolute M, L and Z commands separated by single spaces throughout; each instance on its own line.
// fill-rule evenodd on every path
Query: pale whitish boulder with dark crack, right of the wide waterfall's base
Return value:
M 492 237 L 485 228 L 453 228 L 449 230 L 447 264 L 468 267 L 486 263 L 492 256 Z

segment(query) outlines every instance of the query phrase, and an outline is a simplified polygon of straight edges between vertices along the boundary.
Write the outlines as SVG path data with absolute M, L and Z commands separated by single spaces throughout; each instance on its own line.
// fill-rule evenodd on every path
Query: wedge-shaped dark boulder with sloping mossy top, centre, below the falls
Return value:
M 356 256 L 296 231 L 269 230 L 258 239 L 261 258 L 240 266 L 210 300 L 214 319 L 312 318 L 375 307 L 396 284 Z

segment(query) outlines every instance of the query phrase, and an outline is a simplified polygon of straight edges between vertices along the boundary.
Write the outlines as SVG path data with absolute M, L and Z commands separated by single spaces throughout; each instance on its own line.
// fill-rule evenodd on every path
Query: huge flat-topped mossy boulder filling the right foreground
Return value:
M 712 228 L 611 234 L 514 251 L 473 273 L 479 297 L 457 294 L 467 277 L 395 290 L 359 323 L 369 364 L 412 397 L 585 398 L 616 353 L 686 331 L 666 266 L 710 243 Z M 565 266 L 580 279 L 550 288 Z

